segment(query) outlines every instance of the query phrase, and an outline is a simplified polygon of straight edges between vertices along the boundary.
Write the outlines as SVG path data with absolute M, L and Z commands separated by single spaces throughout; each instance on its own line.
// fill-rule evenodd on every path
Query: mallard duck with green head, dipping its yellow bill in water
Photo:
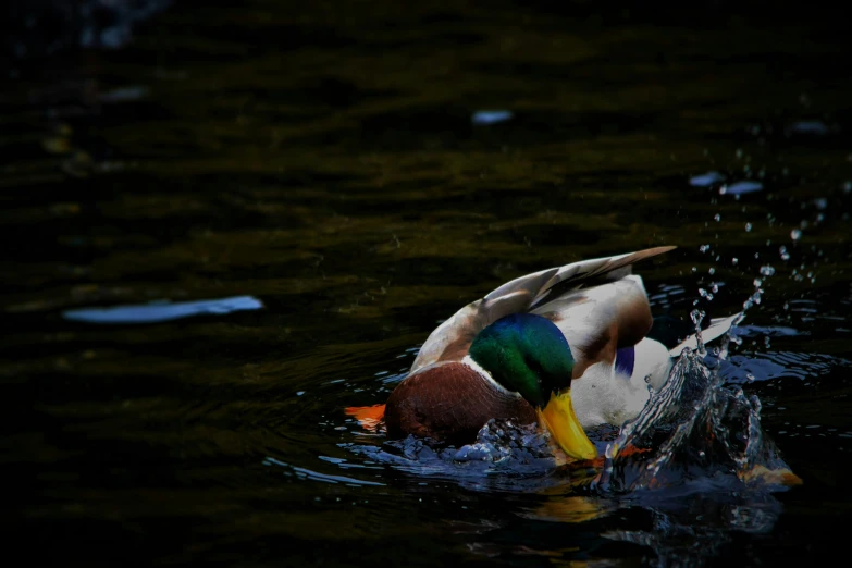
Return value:
M 594 459 L 585 431 L 635 418 L 683 349 L 701 341 L 674 333 L 665 318 L 655 323 L 632 273 L 675 248 L 582 260 L 501 285 L 429 335 L 385 405 L 347 413 L 373 425 L 383 419 L 390 439 L 453 445 L 474 442 L 491 419 L 538 423 L 568 458 Z M 724 335 L 738 318 L 711 320 L 702 339 Z

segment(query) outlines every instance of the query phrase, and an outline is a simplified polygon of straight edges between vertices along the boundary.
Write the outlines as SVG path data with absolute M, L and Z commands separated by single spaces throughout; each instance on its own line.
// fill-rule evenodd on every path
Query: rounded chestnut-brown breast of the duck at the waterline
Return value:
M 385 409 L 390 437 L 415 434 L 456 445 L 474 442 L 492 418 L 529 424 L 536 415 L 527 400 L 501 393 L 460 362 L 435 365 L 408 376 Z

